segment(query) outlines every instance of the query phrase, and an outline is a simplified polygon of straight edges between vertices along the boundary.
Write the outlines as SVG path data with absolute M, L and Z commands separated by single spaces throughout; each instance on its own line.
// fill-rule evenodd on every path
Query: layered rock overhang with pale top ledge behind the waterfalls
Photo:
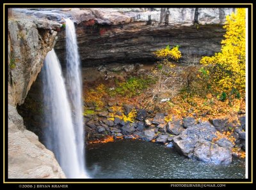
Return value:
M 110 62 L 152 62 L 152 52 L 180 45 L 183 57 L 220 51 L 225 16 L 233 8 L 76 8 L 19 9 L 28 15 L 76 22 L 83 66 Z M 54 47 L 65 62 L 65 31 Z M 181 59 L 181 62 L 186 61 Z

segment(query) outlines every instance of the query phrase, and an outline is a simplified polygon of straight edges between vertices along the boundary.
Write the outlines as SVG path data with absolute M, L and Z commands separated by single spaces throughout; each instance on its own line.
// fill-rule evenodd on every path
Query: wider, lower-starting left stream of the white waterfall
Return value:
M 54 49 L 45 57 L 42 71 L 44 83 L 45 144 L 52 150 L 67 178 L 81 178 L 77 157 L 76 136 L 70 105 L 61 73 L 60 62 Z

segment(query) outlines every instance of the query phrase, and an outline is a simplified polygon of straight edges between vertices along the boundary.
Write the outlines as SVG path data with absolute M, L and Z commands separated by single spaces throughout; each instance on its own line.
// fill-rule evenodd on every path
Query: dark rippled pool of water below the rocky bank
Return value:
M 87 149 L 86 166 L 96 179 L 243 179 L 244 159 L 229 166 L 202 163 L 173 149 L 140 140 L 96 144 Z

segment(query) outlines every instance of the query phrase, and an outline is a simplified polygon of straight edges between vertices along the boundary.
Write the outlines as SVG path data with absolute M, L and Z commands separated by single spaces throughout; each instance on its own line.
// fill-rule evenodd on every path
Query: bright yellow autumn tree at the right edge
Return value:
M 202 68 L 204 75 L 210 78 L 222 98 L 227 96 L 231 102 L 233 96 L 239 98 L 245 94 L 245 8 L 237 8 L 226 20 L 221 52 L 202 57 L 200 63 L 205 66 Z

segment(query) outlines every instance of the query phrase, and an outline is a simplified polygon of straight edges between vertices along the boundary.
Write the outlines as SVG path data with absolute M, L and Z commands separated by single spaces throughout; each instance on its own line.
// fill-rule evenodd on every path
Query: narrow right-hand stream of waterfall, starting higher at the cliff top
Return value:
M 72 119 L 76 133 L 77 156 L 81 172 L 85 173 L 84 166 L 84 129 L 83 129 L 83 105 L 81 68 L 76 40 L 76 29 L 74 22 L 65 18 L 66 22 L 66 56 L 67 56 L 67 87 L 68 97 L 72 105 Z

